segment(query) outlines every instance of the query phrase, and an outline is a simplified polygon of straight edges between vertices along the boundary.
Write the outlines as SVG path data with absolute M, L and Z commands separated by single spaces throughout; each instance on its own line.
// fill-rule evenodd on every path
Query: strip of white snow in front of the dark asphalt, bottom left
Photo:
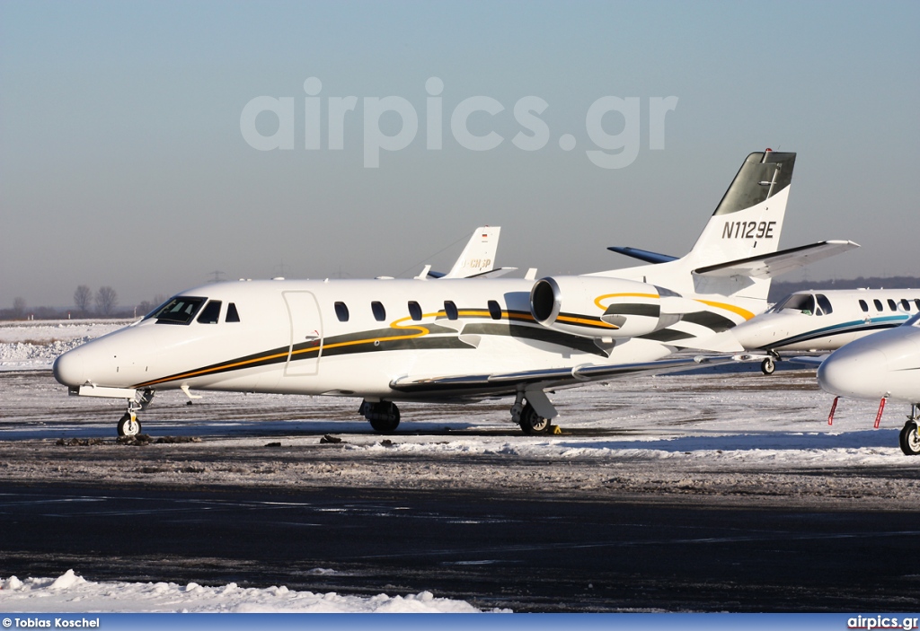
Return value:
M 331 569 L 315 569 L 330 573 Z M 286 587 L 241 588 L 236 583 L 93 582 L 73 569 L 56 579 L 0 579 L 0 611 L 29 613 L 283 613 L 283 614 L 476 614 L 464 601 L 431 592 L 370 598 L 335 592 L 293 592 Z M 498 613 L 498 612 L 495 612 Z

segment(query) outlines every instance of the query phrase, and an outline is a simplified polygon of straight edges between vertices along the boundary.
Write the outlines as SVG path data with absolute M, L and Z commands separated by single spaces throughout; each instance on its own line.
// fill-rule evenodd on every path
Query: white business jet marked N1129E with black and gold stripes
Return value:
M 547 391 L 703 361 L 657 361 L 681 348 L 726 352 L 722 333 L 766 308 L 771 276 L 855 246 L 777 251 L 795 157 L 745 158 L 679 259 L 628 249 L 653 264 L 536 281 L 205 285 L 61 355 L 54 376 L 75 395 L 127 400 L 119 434 L 140 431 L 157 389 L 362 398 L 378 432 L 397 428 L 397 401 L 513 397 L 512 421 L 546 432 L 557 416 Z

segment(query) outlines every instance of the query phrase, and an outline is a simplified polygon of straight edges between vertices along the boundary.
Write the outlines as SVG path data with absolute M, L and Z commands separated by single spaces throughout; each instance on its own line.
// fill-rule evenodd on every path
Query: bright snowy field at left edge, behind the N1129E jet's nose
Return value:
M 0 322 L 0 370 L 35 370 L 80 344 L 121 329 L 130 320 Z

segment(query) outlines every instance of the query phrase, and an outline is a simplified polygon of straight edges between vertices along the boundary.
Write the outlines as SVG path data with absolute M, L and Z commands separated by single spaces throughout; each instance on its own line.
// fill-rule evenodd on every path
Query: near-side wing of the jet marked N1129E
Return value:
M 716 366 L 749 359 L 747 355 L 696 355 L 634 364 L 582 364 L 572 368 L 545 368 L 490 375 L 454 375 L 443 377 L 399 377 L 390 388 L 406 394 L 450 394 L 453 396 L 513 392 L 519 386 L 528 389 L 565 388 L 587 381 L 604 381 L 637 373 L 662 374 L 695 366 Z

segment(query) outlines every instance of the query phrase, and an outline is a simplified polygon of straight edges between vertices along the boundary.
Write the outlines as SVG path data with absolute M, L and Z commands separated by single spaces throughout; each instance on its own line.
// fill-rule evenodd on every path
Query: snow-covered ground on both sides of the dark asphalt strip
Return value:
M 125 323 L 0 326 L 0 479 L 500 490 L 859 511 L 920 503 L 920 461 L 897 444 L 906 410 L 889 406 L 874 430 L 876 404 L 845 400 L 828 426 L 832 398 L 807 370 L 637 377 L 559 391 L 551 398 L 560 434 L 540 436 L 512 425 L 510 400 L 406 404 L 397 434 L 383 438 L 357 414 L 358 400 L 202 393 L 188 405 L 182 393 L 163 392 L 142 415 L 144 434 L 171 438 L 119 445 L 122 402 L 67 397 L 47 368 L 66 348 Z M 474 611 L 427 592 L 367 599 L 90 583 L 69 573 L 7 577 L 0 588 L 3 611 Z

